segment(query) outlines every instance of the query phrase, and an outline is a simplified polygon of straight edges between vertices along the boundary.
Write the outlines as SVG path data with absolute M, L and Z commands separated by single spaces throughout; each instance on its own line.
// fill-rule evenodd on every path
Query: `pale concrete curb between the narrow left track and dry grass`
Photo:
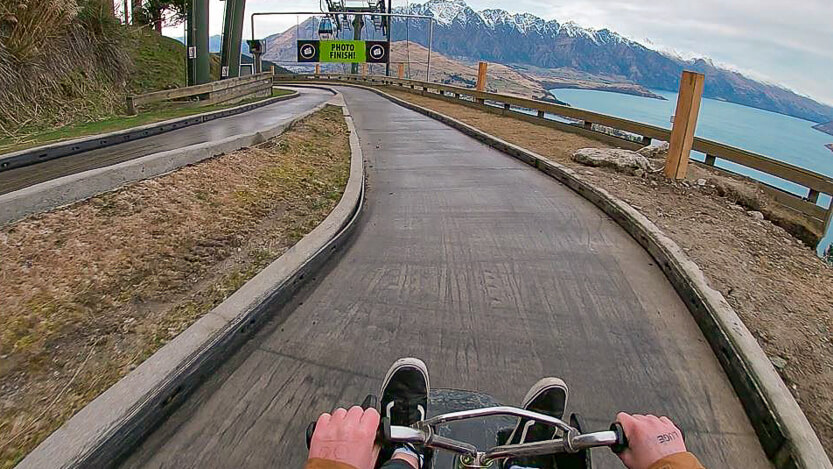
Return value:
M 332 90 L 330 90 L 332 91 Z M 324 102 L 288 122 L 259 132 L 235 135 L 216 142 L 191 145 L 135 158 L 103 168 L 70 174 L 51 181 L 0 195 L 0 226 L 20 220 L 33 213 L 45 212 L 63 205 L 109 192 L 131 182 L 174 171 L 204 159 L 249 147 L 280 135 L 295 122 L 324 108 Z

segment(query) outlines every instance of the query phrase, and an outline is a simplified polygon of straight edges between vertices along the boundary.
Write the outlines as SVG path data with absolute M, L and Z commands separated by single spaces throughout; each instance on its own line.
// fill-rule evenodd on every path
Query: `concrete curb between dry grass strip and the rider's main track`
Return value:
M 274 311 L 343 248 L 364 200 L 364 164 L 352 118 L 350 177 L 312 232 L 227 300 L 162 347 L 56 430 L 18 468 L 111 467 L 165 419 Z

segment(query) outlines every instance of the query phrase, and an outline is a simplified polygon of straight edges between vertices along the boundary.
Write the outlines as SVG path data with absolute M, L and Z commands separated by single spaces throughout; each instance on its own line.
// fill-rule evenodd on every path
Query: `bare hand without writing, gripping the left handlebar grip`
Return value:
M 310 442 L 309 457 L 348 464 L 357 469 L 373 469 L 379 448 L 374 448 L 379 427 L 376 409 L 349 411 L 336 409 L 332 415 L 321 414 Z

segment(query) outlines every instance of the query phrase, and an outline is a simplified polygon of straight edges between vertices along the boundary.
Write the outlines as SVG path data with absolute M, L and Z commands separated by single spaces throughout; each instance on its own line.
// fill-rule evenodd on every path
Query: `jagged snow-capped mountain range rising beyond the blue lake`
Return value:
M 464 0 L 429 0 L 394 10 L 434 17 L 434 48 L 450 57 L 571 69 L 669 91 L 678 89 L 684 69 L 695 70 L 706 74 L 707 97 L 815 122 L 833 120 L 833 108 L 790 90 L 716 67 L 708 59 L 683 60 L 665 54 L 608 29 L 500 9 L 475 11 Z M 392 31 L 394 40 L 428 45 L 425 20 L 398 19 Z

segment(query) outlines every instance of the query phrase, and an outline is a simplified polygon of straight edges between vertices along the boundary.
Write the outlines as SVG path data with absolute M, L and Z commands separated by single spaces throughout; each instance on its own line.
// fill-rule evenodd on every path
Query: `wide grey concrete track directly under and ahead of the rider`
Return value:
M 614 221 L 456 130 L 340 91 L 368 160 L 352 245 L 126 466 L 300 467 L 307 423 L 408 355 L 435 387 L 506 403 L 560 376 L 593 429 L 619 410 L 669 415 L 707 467 L 769 466 L 694 319 Z

